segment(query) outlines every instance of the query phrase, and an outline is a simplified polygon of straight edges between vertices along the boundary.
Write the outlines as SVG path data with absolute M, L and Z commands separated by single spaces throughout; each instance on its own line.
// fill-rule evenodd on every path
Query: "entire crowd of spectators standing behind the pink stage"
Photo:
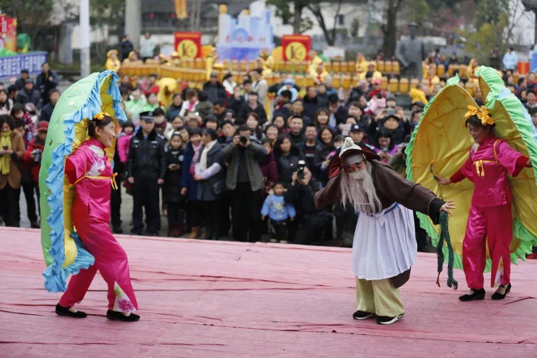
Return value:
M 437 55 L 430 61 L 446 60 Z M 262 73 L 251 70 L 241 85 L 231 74 L 222 82 L 210 76 L 202 89 L 185 84 L 167 107 L 158 100 L 156 75 L 122 77 L 128 121 L 114 157 L 117 181 L 124 187 L 112 192 L 114 232 L 123 232 L 130 222 L 133 235 L 352 244 L 357 220 L 352 209 L 341 204 L 315 209 L 313 197 L 328 181 L 330 159 L 350 136 L 404 175 L 404 149 L 433 93 L 423 91 L 423 100 L 413 98 L 403 108 L 367 74 L 342 94 L 329 76 L 301 88 L 285 74 L 268 86 Z M 535 75 L 514 84 L 507 70 L 504 79 L 537 123 Z M 6 225 L 19 225 L 22 187 L 31 226 L 39 227 L 33 192 L 39 197 L 40 152 L 60 97 L 56 84 L 57 75 L 46 63 L 35 85 L 27 71 L 7 89 L 0 84 L 2 131 L 13 136 L 10 149 L 0 149 L 0 158 L 9 156 L 13 167 L 0 174 Z M 19 137 L 22 145 L 15 150 Z M 130 218 L 120 215 L 122 192 L 133 196 Z M 162 217 L 168 232 L 161 230 Z M 418 249 L 426 250 L 419 225 L 417 240 Z

